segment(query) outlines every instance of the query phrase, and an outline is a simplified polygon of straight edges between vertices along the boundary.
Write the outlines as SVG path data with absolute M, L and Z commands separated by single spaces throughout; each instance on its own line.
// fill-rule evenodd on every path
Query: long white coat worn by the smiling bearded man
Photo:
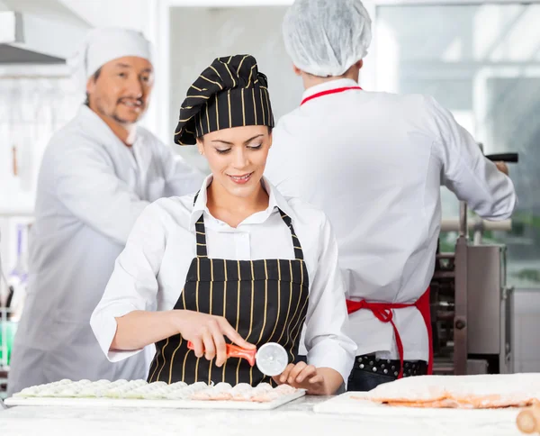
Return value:
M 130 229 L 149 202 L 184 195 L 203 176 L 138 127 L 132 150 L 87 106 L 45 150 L 30 241 L 30 276 L 8 390 L 52 382 L 145 377 L 144 355 L 111 364 L 88 322 Z

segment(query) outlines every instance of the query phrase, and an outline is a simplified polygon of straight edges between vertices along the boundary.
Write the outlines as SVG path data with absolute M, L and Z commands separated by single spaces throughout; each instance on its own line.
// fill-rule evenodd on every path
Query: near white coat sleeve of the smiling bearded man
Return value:
M 148 205 L 114 174 L 111 158 L 77 140 L 54 159 L 58 199 L 79 220 L 123 245 Z

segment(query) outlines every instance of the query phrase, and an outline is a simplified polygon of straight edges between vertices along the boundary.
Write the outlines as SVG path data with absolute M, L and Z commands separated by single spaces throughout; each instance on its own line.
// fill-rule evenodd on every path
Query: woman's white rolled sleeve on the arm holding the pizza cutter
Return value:
M 156 304 L 156 277 L 166 247 L 161 201 L 166 199 L 150 204 L 140 214 L 90 318 L 95 338 L 112 362 L 127 359 L 140 351 L 109 350 L 116 334 L 115 318 L 136 310 L 153 310 Z

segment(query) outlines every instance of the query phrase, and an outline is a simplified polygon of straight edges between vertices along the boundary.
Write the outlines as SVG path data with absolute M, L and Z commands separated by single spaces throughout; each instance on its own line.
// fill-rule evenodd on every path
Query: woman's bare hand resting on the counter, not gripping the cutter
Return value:
M 273 378 L 278 385 L 306 389 L 309 395 L 332 395 L 334 392 L 330 392 L 331 387 L 326 383 L 324 369 L 329 368 L 315 368 L 304 362 L 290 363 L 281 375 Z

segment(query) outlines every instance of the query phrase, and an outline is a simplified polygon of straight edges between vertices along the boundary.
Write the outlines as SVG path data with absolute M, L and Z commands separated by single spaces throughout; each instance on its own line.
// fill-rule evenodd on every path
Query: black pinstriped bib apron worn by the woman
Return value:
M 192 260 L 175 310 L 223 316 L 257 348 L 277 342 L 289 353 L 289 362 L 296 362 L 308 310 L 308 270 L 291 218 L 279 212 L 291 231 L 295 259 L 209 259 L 201 215 L 195 223 L 197 257 Z M 256 386 L 269 381 L 267 378 L 246 359 L 230 358 L 218 368 L 213 359 L 197 358 L 180 334 L 156 343 L 156 356 L 148 373 L 148 382 L 169 384 L 203 381 Z

